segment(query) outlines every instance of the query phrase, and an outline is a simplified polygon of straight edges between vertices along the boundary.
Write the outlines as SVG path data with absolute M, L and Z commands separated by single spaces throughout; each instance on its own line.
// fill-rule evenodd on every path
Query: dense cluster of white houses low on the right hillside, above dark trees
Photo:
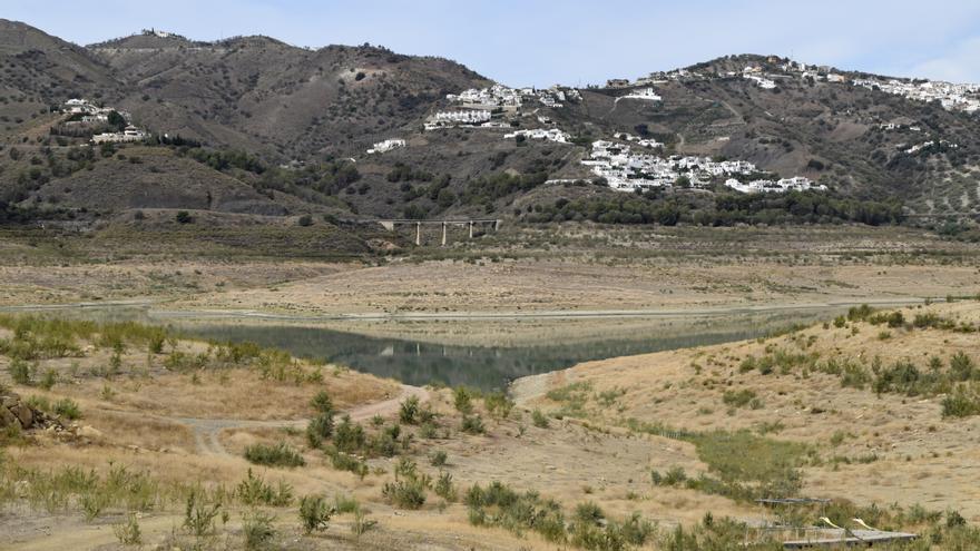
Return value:
M 629 145 L 599 140 L 592 142 L 591 155 L 582 160 L 596 176 L 606 179 L 609 187 L 624 191 L 668 188 L 685 177 L 693 188 L 705 188 L 725 178 L 726 186 L 743 193 L 788 191 L 826 189 L 810 179 L 797 176 L 781 180 L 755 179 L 743 184 L 738 176 L 748 177 L 761 173 L 758 167 L 745 160 L 716 161 L 708 157 L 663 157 L 637 152 Z M 743 178 L 745 179 L 745 178 Z

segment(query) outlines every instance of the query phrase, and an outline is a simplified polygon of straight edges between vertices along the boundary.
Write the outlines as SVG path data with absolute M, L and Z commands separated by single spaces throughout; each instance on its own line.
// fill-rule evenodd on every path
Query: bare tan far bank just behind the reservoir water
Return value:
M 205 294 L 174 307 L 291 315 L 445 315 L 692 311 L 974 294 L 974 266 L 630 265 L 513 260 L 395 264 L 270 288 Z

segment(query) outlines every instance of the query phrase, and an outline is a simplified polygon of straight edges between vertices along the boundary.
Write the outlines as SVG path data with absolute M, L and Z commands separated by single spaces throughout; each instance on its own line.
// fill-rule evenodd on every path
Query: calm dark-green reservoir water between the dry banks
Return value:
M 641 329 L 630 329 L 633 334 L 628 336 L 587 342 L 559 337 L 528 346 L 432 344 L 271 323 L 186 324 L 182 329 L 213 341 L 252 341 L 275 346 L 296 356 L 323 358 L 409 384 L 439 382 L 492 390 L 502 388 L 518 377 L 581 362 L 755 338 L 793 323 L 826 318 L 831 314 L 829 311 L 764 316 L 737 314 L 669 323 L 651 319 Z

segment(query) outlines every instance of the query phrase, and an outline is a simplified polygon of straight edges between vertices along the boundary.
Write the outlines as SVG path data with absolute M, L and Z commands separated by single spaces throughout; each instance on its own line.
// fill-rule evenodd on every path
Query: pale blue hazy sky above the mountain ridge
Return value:
M 150 27 L 371 42 L 511 86 L 635 78 L 727 53 L 980 81 L 980 0 L 0 0 L 0 17 L 82 45 Z

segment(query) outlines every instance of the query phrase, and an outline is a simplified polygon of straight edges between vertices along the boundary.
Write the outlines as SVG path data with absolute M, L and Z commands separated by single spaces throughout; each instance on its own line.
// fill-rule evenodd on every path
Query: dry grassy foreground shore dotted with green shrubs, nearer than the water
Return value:
M 588 545 L 577 531 L 590 530 L 661 549 L 677 525 L 695 542 L 764 535 L 794 519 L 753 502 L 780 491 L 834 500 L 835 520 L 878 504 L 860 514 L 952 530 L 937 524 L 951 511 L 980 519 L 977 305 L 853 308 L 771 338 L 587 363 L 518 381 L 513 401 L 134 324 L 4 317 L 3 385 L 48 429 L 4 432 L 0 547 L 116 549 L 136 523 L 154 548 L 237 549 L 258 523 L 288 549 L 555 549 Z M 308 433 L 323 411 L 321 441 Z M 471 488 L 491 482 L 555 500 L 568 534 L 481 502 Z M 336 512 L 303 535 L 312 494 Z M 610 523 L 581 524 L 587 509 Z

